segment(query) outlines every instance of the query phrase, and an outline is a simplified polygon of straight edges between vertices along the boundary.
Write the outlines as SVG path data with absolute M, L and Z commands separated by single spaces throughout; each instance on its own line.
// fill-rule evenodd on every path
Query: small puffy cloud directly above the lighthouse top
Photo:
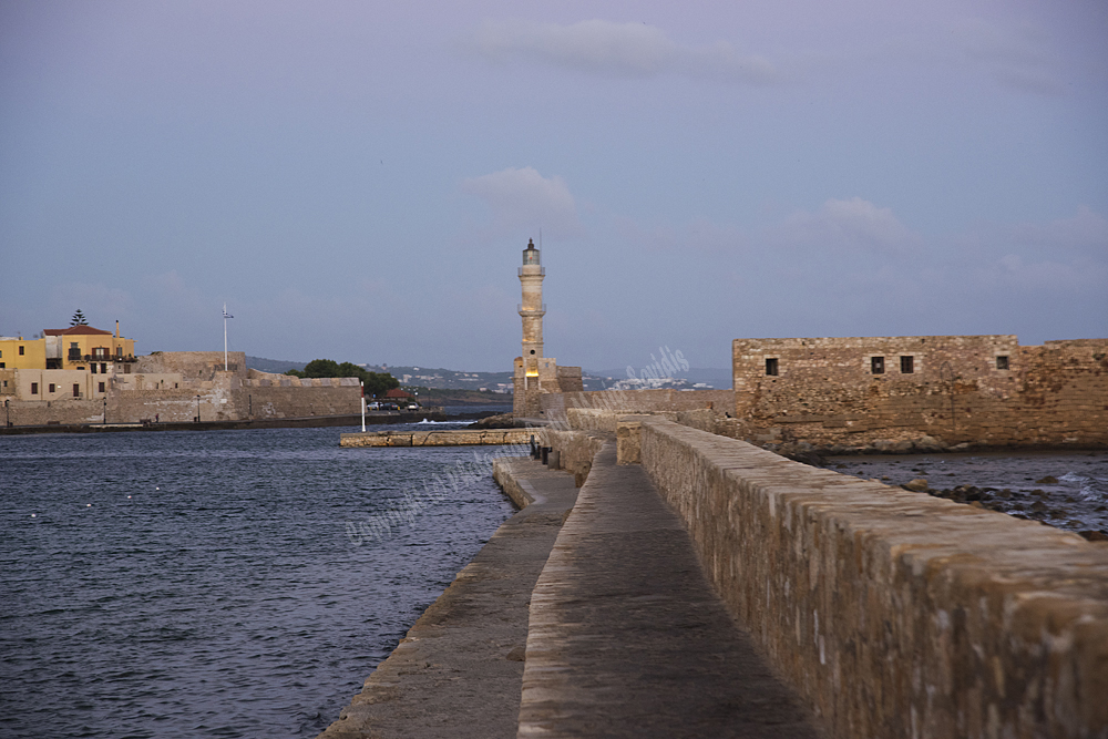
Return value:
M 537 234 L 542 228 L 555 238 L 576 238 L 585 233 L 577 205 L 562 177 L 543 177 L 533 167 L 509 167 L 470 177 L 462 189 L 492 212 L 490 236 L 514 236 L 520 230 Z

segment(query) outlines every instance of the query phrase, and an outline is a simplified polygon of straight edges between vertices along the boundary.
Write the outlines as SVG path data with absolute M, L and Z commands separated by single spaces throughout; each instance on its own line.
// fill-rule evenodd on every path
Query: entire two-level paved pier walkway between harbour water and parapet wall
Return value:
M 615 458 L 608 442 L 579 492 L 564 472 L 499 460 L 526 507 L 320 739 L 820 736 L 642 466 Z

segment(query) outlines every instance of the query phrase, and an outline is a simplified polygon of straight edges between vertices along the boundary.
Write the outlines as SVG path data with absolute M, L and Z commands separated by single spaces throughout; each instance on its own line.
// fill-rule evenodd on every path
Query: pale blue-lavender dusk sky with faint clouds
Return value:
M 0 0 L 0 335 L 503 371 L 1108 337 L 1108 3 Z

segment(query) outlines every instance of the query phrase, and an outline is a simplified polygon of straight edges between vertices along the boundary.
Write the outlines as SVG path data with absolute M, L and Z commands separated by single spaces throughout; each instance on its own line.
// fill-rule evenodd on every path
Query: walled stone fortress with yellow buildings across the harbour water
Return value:
M 247 369 L 242 351 L 135 357 L 134 341 L 120 336 L 119 325 L 114 336 L 75 326 L 47 329 L 40 339 L 3 338 L 0 360 L 6 365 L 0 366 L 0 422 L 7 425 L 222 422 L 361 411 L 357 378 L 261 372 Z

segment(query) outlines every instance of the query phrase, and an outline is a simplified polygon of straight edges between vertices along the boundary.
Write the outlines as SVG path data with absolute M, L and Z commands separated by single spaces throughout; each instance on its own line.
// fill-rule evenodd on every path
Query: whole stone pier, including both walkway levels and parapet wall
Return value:
M 671 415 L 525 430 L 563 470 L 494 463 L 523 510 L 320 736 L 1108 737 L 1108 543 Z

